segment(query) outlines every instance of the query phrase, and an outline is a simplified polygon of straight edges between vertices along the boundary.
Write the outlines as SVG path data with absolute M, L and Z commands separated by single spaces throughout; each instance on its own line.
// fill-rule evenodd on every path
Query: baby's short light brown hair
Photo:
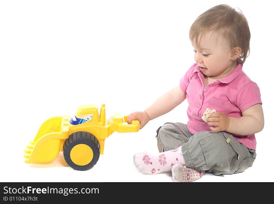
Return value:
M 240 9 L 239 9 L 240 10 Z M 242 11 L 220 4 L 202 13 L 192 24 L 189 30 L 190 40 L 196 40 L 196 45 L 200 48 L 202 36 L 213 31 L 221 34 L 229 43 L 230 48 L 239 46 L 242 52 L 239 56 L 243 64 L 249 55 L 250 31 L 248 22 Z M 200 36 L 200 42 L 198 37 Z

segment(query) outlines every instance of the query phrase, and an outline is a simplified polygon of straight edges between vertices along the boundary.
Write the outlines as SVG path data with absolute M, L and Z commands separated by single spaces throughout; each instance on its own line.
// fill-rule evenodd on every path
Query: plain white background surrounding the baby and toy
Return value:
M 106 116 L 144 110 L 179 83 L 194 63 L 188 32 L 210 7 L 239 7 L 250 31 L 243 71 L 261 90 L 264 129 L 257 158 L 244 173 L 196 182 L 269 182 L 273 169 L 273 3 L 270 1 L 1 1 L 1 182 L 173 182 L 171 173 L 141 174 L 136 152 L 157 153 L 156 129 L 187 123 L 187 101 L 137 133 L 113 133 L 88 171 L 24 163 L 24 149 L 46 119 L 106 104 Z

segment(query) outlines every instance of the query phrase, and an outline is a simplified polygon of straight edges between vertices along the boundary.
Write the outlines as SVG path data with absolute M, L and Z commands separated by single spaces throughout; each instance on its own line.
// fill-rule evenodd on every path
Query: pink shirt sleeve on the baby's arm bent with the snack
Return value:
M 262 104 L 260 88 L 256 83 L 249 82 L 236 94 L 234 103 L 242 112 L 257 103 Z

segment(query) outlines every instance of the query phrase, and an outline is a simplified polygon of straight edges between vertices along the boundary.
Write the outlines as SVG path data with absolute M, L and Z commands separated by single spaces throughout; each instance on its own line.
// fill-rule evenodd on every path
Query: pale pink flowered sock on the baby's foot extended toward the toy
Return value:
M 176 163 L 185 164 L 181 146 L 156 155 L 143 152 L 136 153 L 133 156 L 133 162 L 138 170 L 144 174 L 168 172 Z

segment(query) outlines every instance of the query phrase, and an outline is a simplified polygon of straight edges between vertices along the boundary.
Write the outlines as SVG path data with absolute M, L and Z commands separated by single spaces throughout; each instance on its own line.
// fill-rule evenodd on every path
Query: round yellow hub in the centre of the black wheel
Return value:
M 93 151 L 85 144 L 75 145 L 70 151 L 70 159 L 79 166 L 87 165 L 93 158 Z

